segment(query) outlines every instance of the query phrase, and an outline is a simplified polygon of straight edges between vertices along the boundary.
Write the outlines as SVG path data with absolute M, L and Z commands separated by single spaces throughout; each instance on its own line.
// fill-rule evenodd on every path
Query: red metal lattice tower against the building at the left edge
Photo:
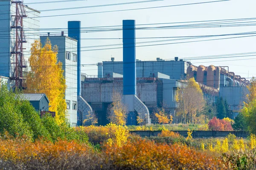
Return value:
M 25 88 L 23 78 L 23 68 L 26 68 L 25 58 L 23 55 L 23 43 L 26 43 L 26 37 L 23 30 L 23 18 L 27 17 L 23 1 L 12 0 L 12 4 L 16 6 L 16 14 L 12 15 L 14 21 L 11 25 L 11 30 L 15 31 L 15 45 L 12 48 L 11 54 L 13 55 L 14 62 L 12 67 L 14 69 L 11 79 L 15 81 L 16 88 Z

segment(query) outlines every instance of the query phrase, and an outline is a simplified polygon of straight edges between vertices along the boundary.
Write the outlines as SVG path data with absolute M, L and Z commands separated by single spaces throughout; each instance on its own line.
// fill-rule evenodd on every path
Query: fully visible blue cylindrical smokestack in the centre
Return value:
M 123 20 L 123 95 L 136 95 L 135 20 Z

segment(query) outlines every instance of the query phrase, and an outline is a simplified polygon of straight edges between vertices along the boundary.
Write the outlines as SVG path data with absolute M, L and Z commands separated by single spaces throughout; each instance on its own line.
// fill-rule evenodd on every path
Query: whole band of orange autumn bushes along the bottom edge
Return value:
M 185 146 L 157 144 L 138 139 L 122 147 L 105 144 L 95 152 L 76 141 L 27 141 L 0 139 L 0 167 L 15 170 L 214 170 L 223 169 L 220 160 Z

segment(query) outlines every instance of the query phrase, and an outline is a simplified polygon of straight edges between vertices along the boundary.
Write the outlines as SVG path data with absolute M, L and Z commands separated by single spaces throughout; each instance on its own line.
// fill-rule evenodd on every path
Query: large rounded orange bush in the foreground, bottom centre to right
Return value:
M 120 149 L 107 148 L 106 153 L 120 169 L 222 169 L 219 161 L 204 153 L 142 139 L 129 141 Z

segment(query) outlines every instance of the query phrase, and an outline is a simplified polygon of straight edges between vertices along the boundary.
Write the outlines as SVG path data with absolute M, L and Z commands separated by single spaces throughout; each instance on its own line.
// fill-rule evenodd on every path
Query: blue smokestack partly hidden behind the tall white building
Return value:
M 77 95 L 81 95 L 81 21 L 68 21 L 68 36 L 77 42 Z

